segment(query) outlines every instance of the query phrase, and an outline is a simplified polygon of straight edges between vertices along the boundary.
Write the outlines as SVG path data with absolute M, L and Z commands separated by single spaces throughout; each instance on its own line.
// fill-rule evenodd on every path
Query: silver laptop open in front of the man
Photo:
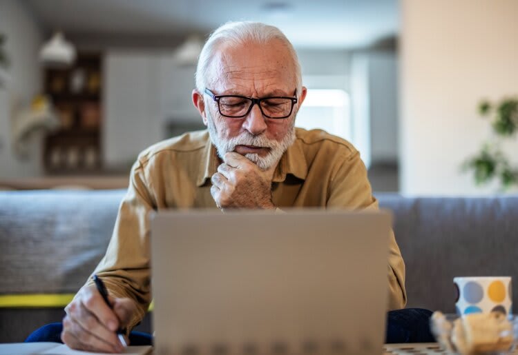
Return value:
M 380 354 L 390 214 L 159 212 L 155 354 Z

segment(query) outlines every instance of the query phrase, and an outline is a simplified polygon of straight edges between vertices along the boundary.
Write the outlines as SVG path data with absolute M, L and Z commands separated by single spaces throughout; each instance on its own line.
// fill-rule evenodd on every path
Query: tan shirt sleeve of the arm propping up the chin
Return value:
M 378 201 L 372 196 L 367 179 L 367 169 L 356 151 L 343 159 L 332 174 L 329 183 L 327 207 L 347 207 L 354 210 L 378 210 Z M 396 243 L 394 232 L 390 230 L 390 252 L 387 265 L 389 288 L 388 310 L 405 307 L 405 263 Z

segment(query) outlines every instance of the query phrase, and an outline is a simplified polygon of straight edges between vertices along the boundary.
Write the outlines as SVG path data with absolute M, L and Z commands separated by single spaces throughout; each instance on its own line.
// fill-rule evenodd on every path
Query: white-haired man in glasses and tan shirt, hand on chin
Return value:
M 306 93 L 296 52 L 278 28 L 238 22 L 215 30 L 200 54 L 192 93 L 208 132 L 184 134 L 140 154 L 106 256 L 95 270 L 106 282 L 113 310 L 88 281 L 66 307 L 62 332 L 57 325 L 54 334 L 61 332 L 73 348 L 122 351 L 115 330 L 132 329 L 151 301 L 147 216 L 152 210 L 376 209 L 365 166 L 349 142 L 294 128 Z M 388 309 L 403 308 L 405 265 L 393 235 L 387 287 Z M 405 327 L 422 314 L 399 312 L 389 316 L 389 333 L 412 341 Z M 45 339 L 33 334 L 29 340 Z

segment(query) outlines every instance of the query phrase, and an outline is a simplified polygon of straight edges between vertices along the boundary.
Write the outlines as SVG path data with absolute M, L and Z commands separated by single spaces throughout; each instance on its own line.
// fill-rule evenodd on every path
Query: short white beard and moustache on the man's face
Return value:
M 258 147 L 266 147 L 270 149 L 267 156 L 260 156 L 256 153 L 244 154 L 249 161 L 256 163 L 260 170 L 263 171 L 276 165 L 278 161 L 280 161 L 282 154 L 284 154 L 289 146 L 294 143 L 296 138 L 295 127 L 293 124 L 282 141 L 267 139 L 265 133 L 254 136 L 247 131 L 244 131 L 239 136 L 235 136 L 231 139 L 223 139 L 218 134 L 213 118 L 208 109 L 205 110 L 205 114 L 207 114 L 207 128 L 209 130 L 209 136 L 211 137 L 211 141 L 221 159 L 223 159 L 224 154 L 233 152 L 236 149 L 236 145 L 256 145 Z

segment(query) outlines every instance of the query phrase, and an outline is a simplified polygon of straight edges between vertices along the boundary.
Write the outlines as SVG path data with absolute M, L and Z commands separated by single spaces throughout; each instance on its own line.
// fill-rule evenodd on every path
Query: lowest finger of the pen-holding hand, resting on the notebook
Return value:
M 61 340 L 73 349 L 88 350 L 90 352 L 122 352 L 122 345 L 113 345 L 88 332 L 81 327 L 72 317 L 66 317 L 63 320 L 63 332 L 61 332 Z

